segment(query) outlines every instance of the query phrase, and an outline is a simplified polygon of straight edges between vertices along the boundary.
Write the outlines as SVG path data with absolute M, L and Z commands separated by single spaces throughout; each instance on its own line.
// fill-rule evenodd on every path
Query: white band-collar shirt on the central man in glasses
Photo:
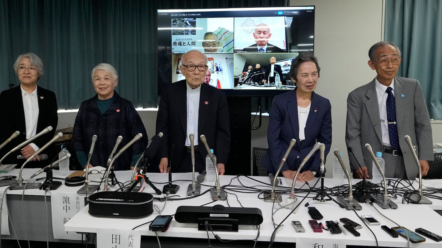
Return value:
M 194 146 L 198 146 L 198 113 L 199 113 L 199 96 L 201 93 L 201 86 L 196 89 L 192 89 L 188 83 L 186 83 L 187 89 L 187 147 L 191 146 L 191 140 L 189 135 L 194 135 Z

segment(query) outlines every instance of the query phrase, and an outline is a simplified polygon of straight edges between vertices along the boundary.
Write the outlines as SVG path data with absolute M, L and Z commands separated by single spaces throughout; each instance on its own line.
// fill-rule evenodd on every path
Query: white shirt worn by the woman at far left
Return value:
M 25 113 L 25 124 L 26 124 L 26 139 L 37 134 L 37 121 L 38 121 L 38 98 L 37 98 L 37 87 L 30 94 L 22 90 L 22 100 L 23 100 L 23 110 Z M 34 143 L 30 143 L 30 146 L 34 148 L 35 151 L 38 147 Z

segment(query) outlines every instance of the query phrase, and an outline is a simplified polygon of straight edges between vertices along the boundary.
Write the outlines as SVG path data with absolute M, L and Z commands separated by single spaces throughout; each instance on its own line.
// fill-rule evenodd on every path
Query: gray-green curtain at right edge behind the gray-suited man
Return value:
M 442 120 L 442 0 L 387 0 L 384 39 L 401 49 L 398 75 L 419 80 L 430 117 Z

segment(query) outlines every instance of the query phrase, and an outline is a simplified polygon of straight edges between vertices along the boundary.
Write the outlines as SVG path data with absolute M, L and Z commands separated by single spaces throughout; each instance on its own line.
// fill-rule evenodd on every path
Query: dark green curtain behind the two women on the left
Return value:
M 17 56 L 35 53 L 38 85 L 57 95 L 58 109 L 77 109 L 95 95 L 91 70 L 109 63 L 118 93 L 135 107 L 156 108 L 156 10 L 288 6 L 288 0 L 0 0 L 0 90 L 19 84 Z

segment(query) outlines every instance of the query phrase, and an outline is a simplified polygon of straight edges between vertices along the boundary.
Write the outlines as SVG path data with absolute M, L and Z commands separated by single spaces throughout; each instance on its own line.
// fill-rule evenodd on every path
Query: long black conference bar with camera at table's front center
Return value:
M 179 206 L 175 212 L 175 220 L 179 223 L 199 223 L 201 219 L 226 220 L 232 219 L 238 225 L 260 225 L 263 213 L 255 207 L 213 207 Z M 237 221 L 236 221 L 237 220 Z

